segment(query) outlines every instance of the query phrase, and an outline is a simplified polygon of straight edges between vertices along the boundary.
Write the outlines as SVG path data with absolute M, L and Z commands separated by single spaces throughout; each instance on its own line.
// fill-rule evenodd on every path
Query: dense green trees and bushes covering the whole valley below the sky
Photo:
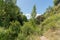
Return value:
M 16 5 L 17 0 L 0 0 L 0 40 L 35 40 L 51 29 L 60 29 L 60 0 L 36 17 L 36 5 L 27 19 Z

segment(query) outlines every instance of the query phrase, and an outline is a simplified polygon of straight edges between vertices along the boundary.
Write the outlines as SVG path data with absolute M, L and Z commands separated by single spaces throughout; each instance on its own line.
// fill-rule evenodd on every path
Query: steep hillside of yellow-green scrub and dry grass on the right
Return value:
M 54 11 L 46 12 L 46 19 L 40 24 L 43 36 L 49 40 L 60 40 L 60 4 L 54 6 Z M 51 14 L 51 15 L 50 15 Z

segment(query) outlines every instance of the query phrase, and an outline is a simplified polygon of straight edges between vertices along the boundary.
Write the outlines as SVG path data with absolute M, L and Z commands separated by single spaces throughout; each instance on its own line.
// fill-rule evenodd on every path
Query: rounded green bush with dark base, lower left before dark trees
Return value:
M 18 36 L 18 33 L 20 32 L 20 23 L 18 21 L 13 21 L 10 23 L 9 26 L 9 36 L 11 40 L 15 40 L 15 38 Z

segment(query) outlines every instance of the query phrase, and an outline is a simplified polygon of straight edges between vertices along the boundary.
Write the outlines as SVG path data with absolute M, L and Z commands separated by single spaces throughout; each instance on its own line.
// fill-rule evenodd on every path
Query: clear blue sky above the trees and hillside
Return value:
M 33 5 L 36 5 L 37 13 L 42 14 L 46 8 L 53 6 L 52 0 L 17 0 L 17 5 L 24 14 L 29 14 L 32 11 Z

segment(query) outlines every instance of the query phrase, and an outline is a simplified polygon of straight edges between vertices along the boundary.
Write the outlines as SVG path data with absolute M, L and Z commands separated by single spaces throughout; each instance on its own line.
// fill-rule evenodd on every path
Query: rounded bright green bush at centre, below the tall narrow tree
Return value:
M 29 23 L 29 22 L 25 23 L 24 26 L 22 27 L 22 32 L 25 35 L 33 34 L 34 33 L 34 28 L 31 25 L 31 23 Z

